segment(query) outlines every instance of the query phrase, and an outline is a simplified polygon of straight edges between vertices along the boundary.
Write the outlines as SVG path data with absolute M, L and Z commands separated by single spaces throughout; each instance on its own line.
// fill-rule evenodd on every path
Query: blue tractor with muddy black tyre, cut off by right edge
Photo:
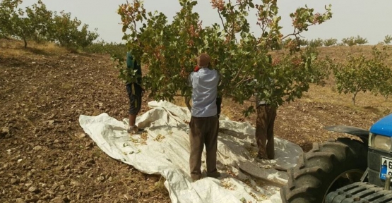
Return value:
M 370 130 L 346 125 L 326 127 L 341 137 L 314 143 L 301 154 L 297 166 L 287 173 L 289 180 L 280 190 L 287 203 L 392 202 L 392 114 Z

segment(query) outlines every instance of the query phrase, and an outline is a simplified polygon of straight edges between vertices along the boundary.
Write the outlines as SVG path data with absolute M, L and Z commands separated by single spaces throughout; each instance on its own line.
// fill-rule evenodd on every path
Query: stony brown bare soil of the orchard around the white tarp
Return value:
M 110 158 L 78 123 L 81 114 L 127 116 L 126 90 L 109 56 L 6 41 L 0 43 L 0 202 L 170 202 L 163 178 Z M 312 142 L 346 136 L 324 126 L 368 129 L 391 112 L 392 102 L 382 97 L 360 94 L 352 106 L 350 95 L 327 84 L 280 106 L 275 135 L 309 151 Z M 234 121 L 256 121 L 230 99 L 222 109 Z

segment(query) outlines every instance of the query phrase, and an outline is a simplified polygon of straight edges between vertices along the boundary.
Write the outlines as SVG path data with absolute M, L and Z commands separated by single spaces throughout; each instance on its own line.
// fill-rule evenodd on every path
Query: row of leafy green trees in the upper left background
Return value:
M 48 11 L 41 0 L 36 4 L 19 8 L 22 0 L 0 1 L 0 37 L 22 39 L 25 47 L 28 41 L 55 42 L 61 47 L 87 47 L 97 39 L 98 34 L 88 30 L 71 13 Z

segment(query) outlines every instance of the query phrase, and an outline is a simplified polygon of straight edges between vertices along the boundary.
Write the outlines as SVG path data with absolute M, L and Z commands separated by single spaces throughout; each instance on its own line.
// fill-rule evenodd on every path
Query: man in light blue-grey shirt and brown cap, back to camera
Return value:
M 189 75 L 189 85 L 192 87 L 192 107 L 191 154 L 189 157 L 189 167 L 192 180 L 202 178 L 201 175 L 201 154 L 204 145 L 207 152 L 207 176 L 218 178 L 220 173 L 216 168 L 216 152 L 218 147 L 218 107 L 216 98 L 218 95 L 218 82 L 220 76 L 217 70 L 209 68 L 210 56 L 201 54 L 197 59 L 198 68 L 196 72 Z

